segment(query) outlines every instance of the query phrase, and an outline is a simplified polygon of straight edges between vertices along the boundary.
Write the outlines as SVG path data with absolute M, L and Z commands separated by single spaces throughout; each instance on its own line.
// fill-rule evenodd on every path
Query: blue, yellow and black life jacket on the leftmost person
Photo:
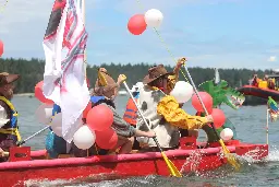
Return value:
M 10 121 L 8 121 L 3 127 L 0 128 L 0 135 L 10 135 L 14 142 L 21 141 L 21 135 L 17 126 L 17 112 L 14 109 L 13 104 L 4 96 L 0 96 L 0 101 L 2 101 L 8 106 L 3 107 L 9 109 L 7 110 L 7 114 L 10 118 Z

